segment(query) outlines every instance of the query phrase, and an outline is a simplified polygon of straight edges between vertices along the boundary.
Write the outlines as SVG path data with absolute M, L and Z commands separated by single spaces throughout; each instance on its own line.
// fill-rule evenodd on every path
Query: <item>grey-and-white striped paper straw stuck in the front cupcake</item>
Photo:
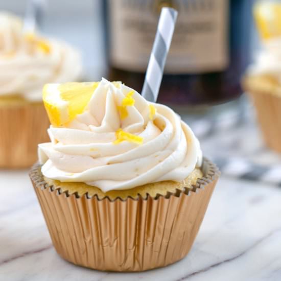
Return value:
M 177 15 L 177 11 L 172 8 L 161 9 L 142 91 L 142 96 L 150 102 L 157 100 Z

